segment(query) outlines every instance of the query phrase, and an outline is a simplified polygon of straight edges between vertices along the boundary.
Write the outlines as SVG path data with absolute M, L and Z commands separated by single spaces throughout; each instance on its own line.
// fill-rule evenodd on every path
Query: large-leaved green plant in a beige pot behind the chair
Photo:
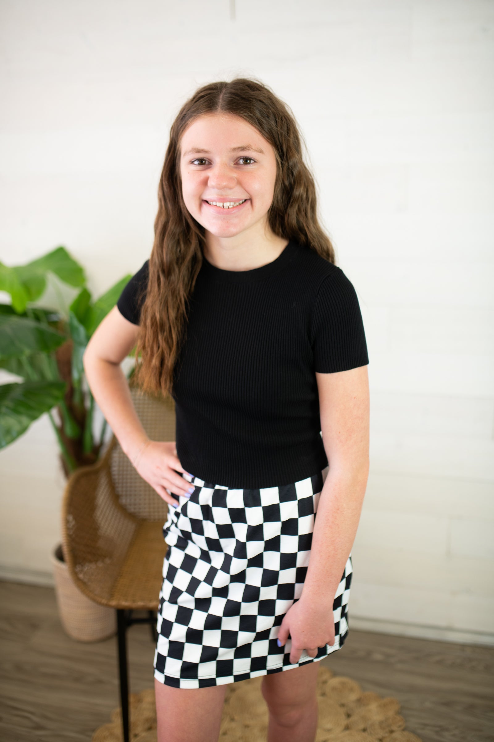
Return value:
M 76 289 L 68 308 L 39 306 L 50 274 Z M 47 414 L 67 479 L 79 467 L 99 459 L 107 421 L 103 420 L 100 430 L 94 430 L 94 398 L 84 378 L 82 355 L 130 278 L 124 276 L 93 301 L 84 269 L 64 247 L 25 265 L 0 263 L 0 290 L 11 299 L 11 303 L 0 303 L 0 368 L 21 378 L 0 384 L 0 450 Z M 63 300 L 59 303 L 64 305 Z M 115 611 L 89 601 L 73 585 L 61 544 L 56 545 L 51 557 L 61 623 L 67 634 L 87 641 L 115 633 Z M 91 610 L 95 612 L 92 623 L 88 618 Z M 84 627 L 93 634 L 88 635 Z

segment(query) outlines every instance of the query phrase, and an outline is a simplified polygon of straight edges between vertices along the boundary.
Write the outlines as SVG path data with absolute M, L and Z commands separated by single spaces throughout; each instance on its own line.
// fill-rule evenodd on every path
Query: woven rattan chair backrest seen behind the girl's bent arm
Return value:
M 147 436 L 153 441 L 174 441 L 176 428 L 173 398 L 154 398 L 132 386 L 130 395 Z M 125 510 L 144 520 L 166 520 L 167 503 L 139 476 L 117 440 L 113 441 L 110 453 L 110 471 L 113 487 Z

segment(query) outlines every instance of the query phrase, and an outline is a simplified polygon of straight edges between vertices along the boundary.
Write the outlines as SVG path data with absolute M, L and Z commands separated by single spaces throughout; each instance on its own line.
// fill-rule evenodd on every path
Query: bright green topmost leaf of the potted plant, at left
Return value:
M 16 312 L 24 312 L 28 301 L 36 301 L 43 294 L 47 271 L 55 273 L 69 286 L 86 283 L 84 268 L 61 246 L 24 266 L 0 263 L 0 289 L 10 294 Z

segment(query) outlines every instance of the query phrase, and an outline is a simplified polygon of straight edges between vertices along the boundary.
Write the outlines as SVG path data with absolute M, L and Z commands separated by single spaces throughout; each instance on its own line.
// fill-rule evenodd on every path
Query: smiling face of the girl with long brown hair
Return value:
M 216 237 L 270 232 L 275 152 L 244 119 L 199 116 L 181 137 L 180 174 L 185 206 L 206 232 Z

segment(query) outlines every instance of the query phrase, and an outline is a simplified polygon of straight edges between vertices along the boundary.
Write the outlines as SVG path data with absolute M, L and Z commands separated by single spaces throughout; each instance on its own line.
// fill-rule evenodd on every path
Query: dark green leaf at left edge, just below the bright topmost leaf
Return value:
M 0 358 L 19 358 L 41 351 L 48 353 L 64 343 L 56 329 L 16 315 L 0 315 Z

